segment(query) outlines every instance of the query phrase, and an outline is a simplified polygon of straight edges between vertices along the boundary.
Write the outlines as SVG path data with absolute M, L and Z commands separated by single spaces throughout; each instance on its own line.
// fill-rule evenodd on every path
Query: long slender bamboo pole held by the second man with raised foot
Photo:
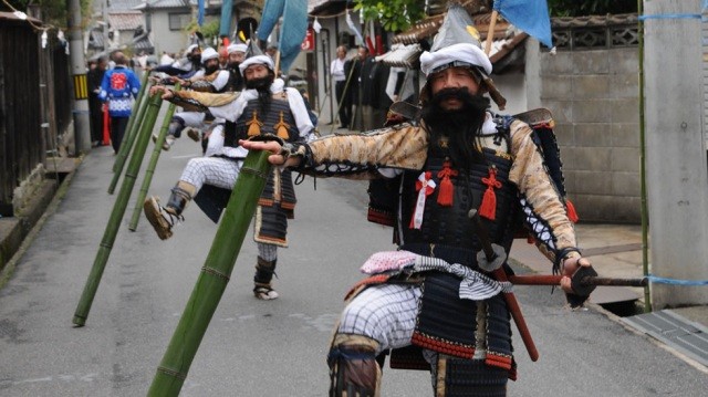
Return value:
M 98 252 L 96 252 L 93 268 L 91 268 L 88 280 L 86 280 L 86 285 L 84 286 L 84 292 L 81 294 L 81 300 L 79 301 L 76 312 L 74 313 L 73 322 L 76 326 L 84 326 L 84 324 L 86 323 L 86 318 L 88 317 L 91 304 L 93 303 L 96 290 L 98 289 L 98 283 L 101 282 L 101 276 L 103 275 L 106 262 L 108 261 L 108 257 L 111 255 L 113 243 L 115 242 L 115 238 L 118 234 L 121 220 L 123 219 L 125 209 L 128 206 L 131 191 L 133 191 L 136 175 L 140 170 L 140 164 L 143 164 L 145 149 L 147 147 L 147 143 L 150 139 L 150 132 L 153 130 L 153 126 L 155 126 L 155 121 L 157 119 L 157 113 L 159 112 L 162 102 L 163 100 L 159 94 L 150 96 L 148 101 L 149 108 L 145 116 L 145 123 L 143 124 L 138 135 L 139 139 L 137 142 L 135 150 L 133 150 L 133 156 L 131 157 L 128 169 L 125 173 L 125 178 L 123 179 L 123 186 L 121 186 L 121 191 L 118 192 L 115 203 L 113 205 L 113 211 L 111 212 L 108 224 L 106 224 L 106 230 L 103 233 L 103 240 L 101 240 Z

